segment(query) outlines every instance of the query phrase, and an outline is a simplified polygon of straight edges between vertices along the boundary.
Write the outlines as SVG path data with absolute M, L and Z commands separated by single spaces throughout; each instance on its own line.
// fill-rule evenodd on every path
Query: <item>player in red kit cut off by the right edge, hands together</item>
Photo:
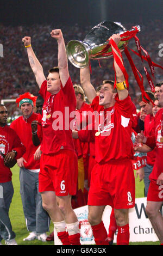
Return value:
M 151 180 L 148 194 L 147 194 L 147 206 L 146 212 L 151 221 L 151 224 L 158 236 L 161 245 L 163 245 L 163 218 L 160 213 L 162 206 L 162 185 L 163 185 L 163 164 L 162 164 L 162 149 L 163 149 L 163 84 L 160 87 L 159 105 L 161 109 L 156 113 L 154 117 L 154 130 L 153 136 L 145 137 L 143 132 L 136 136 L 136 143 L 144 143 L 142 147 L 138 147 L 140 152 L 148 152 L 156 147 L 155 150 L 155 163 L 152 173 L 149 175 Z

